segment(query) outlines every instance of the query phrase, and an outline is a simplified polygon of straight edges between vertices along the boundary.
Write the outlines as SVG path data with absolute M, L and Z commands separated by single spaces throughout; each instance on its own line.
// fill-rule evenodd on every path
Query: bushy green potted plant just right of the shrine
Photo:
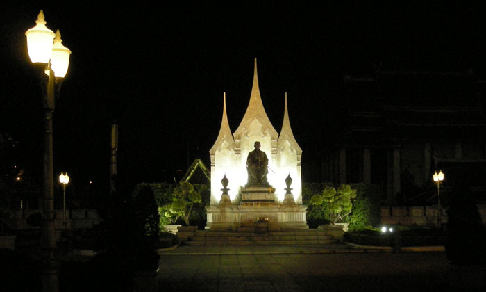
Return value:
M 315 194 L 310 199 L 310 204 L 320 207 L 328 216 L 331 225 L 330 229 L 344 229 L 347 227 L 343 222 L 349 217 L 353 208 L 353 200 L 356 197 L 356 190 L 351 189 L 349 184 L 341 184 L 337 190 L 326 186 L 321 194 Z M 337 227 L 336 225 L 340 225 Z M 328 227 L 329 228 L 329 227 Z M 347 228 L 346 228 L 347 229 Z M 344 230 L 347 231 L 347 230 Z

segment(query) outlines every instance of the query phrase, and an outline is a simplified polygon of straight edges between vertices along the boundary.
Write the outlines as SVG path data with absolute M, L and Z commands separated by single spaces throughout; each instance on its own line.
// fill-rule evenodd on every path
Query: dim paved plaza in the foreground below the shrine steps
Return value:
M 181 246 L 160 252 L 159 291 L 484 291 L 484 267 L 444 252 L 319 246 Z

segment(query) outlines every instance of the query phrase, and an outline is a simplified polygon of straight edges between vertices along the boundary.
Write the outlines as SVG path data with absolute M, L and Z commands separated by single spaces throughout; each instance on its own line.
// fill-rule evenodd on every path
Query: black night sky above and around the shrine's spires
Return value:
M 223 92 L 232 131 L 244 115 L 253 58 L 277 131 L 288 92 L 305 165 L 339 129 L 333 110 L 340 99 L 333 92 L 344 74 L 374 65 L 467 70 L 482 67 L 486 57 L 485 10 L 475 3 L 3 2 L 0 133 L 19 141 L 19 165 L 42 170 L 40 87 L 24 32 L 43 9 L 47 26 L 60 29 L 72 50 L 54 115 L 55 173 L 67 170 L 83 184 L 108 179 L 112 119 L 120 127 L 119 171 L 135 181 L 162 181 L 162 170 L 185 170 L 196 157 L 208 162 Z

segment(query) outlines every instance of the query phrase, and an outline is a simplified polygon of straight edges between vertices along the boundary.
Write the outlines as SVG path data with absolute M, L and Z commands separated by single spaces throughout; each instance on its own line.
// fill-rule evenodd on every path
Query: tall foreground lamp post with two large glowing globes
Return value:
M 36 25 L 28 29 L 28 56 L 40 74 L 42 99 L 44 102 L 44 223 L 42 225 L 42 291 L 58 291 L 58 262 L 56 250 L 56 227 L 54 225 L 54 179 L 53 179 L 53 133 L 52 113 L 54 97 L 69 66 L 71 51 L 62 45 L 60 32 L 53 33 L 46 27 L 44 13 L 40 10 Z

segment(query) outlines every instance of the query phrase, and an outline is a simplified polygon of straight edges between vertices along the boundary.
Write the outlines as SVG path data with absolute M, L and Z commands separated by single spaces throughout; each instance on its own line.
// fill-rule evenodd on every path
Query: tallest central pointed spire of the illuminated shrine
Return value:
M 236 129 L 234 136 L 235 139 L 241 138 L 241 135 L 249 129 L 249 125 L 253 120 L 257 119 L 261 124 L 263 129 L 270 133 L 272 137 L 275 139 L 278 137 L 278 133 L 275 130 L 274 126 L 272 126 L 267 113 L 265 112 L 265 108 L 263 107 L 262 97 L 260 95 L 260 88 L 258 86 L 258 71 L 256 65 L 256 58 L 255 58 L 255 69 L 253 72 L 253 86 L 251 88 L 251 96 L 250 102 L 248 107 L 246 108 L 246 112 L 244 113 L 244 117 L 238 129 Z

